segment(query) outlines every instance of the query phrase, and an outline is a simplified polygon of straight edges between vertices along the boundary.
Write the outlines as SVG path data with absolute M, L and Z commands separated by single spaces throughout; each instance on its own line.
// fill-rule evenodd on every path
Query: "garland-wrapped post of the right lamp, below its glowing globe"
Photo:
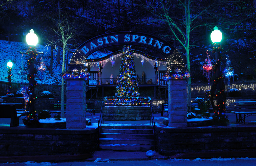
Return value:
M 214 43 L 212 53 L 215 53 L 215 58 L 217 59 L 216 64 L 213 66 L 213 71 L 215 72 L 215 78 L 213 85 L 211 87 L 211 103 L 214 110 L 214 117 L 223 118 L 226 117 L 226 94 L 224 93 L 225 84 L 223 79 L 223 72 L 221 72 L 221 63 L 223 59 L 222 48 L 220 43 Z M 214 94 L 216 90 L 216 93 Z M 213 104 L 213 96 L 217 100 L 217 104 Z

